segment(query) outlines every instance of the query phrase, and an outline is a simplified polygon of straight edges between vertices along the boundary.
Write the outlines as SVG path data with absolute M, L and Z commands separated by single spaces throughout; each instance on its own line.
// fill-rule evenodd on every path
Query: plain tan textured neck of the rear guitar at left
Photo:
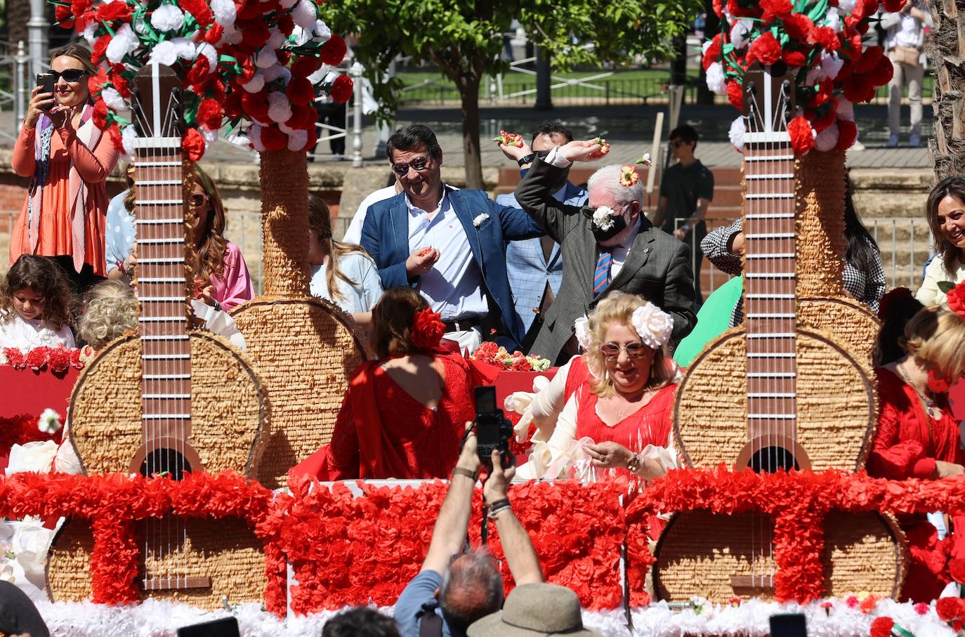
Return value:
M 262 152 L 263 296 L 308 296 L 308 163 L 305 151 Z

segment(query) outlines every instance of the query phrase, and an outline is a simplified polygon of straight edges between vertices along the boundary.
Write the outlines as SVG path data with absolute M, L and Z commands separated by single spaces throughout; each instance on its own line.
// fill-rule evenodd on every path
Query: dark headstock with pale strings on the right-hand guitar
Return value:
M 744 119 L 749 133 L 786 132 L 794 117 L 794 76 L 783 62 L 755 62 L 744 72 Z

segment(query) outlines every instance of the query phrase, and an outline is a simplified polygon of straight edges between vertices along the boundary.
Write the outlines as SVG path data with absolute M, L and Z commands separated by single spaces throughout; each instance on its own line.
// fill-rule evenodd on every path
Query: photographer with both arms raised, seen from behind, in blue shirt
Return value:
M 507 498 L 515 468 L 503 469 L 498 451 L 491 458 L 483 499 L 489 517 L 496 520 L 512 577 L 517 586 L 542 582 L 536 550 Z M 503 578 L 495 561 L 484 551 L 465 552 L 473 489 L 481 466 L 476 434 L 469 432 L 439 509 L 422 570 L 396 602 L 402 637 L 464 637 L 469 624 L 503 606 Z

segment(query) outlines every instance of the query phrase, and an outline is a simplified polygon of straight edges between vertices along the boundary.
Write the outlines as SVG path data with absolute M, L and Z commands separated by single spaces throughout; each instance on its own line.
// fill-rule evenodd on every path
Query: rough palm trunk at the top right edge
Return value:
M 928 3 L 935 28 L 926 47 L 935 89 L 931 107 L 935 129 L 928 141 L 939 180 L 965 175 L 965 0 Z

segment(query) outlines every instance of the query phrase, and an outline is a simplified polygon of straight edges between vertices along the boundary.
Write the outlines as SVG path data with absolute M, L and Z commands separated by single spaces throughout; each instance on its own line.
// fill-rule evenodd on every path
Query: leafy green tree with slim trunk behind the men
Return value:
M 462 110 L 466 182 L 483 186 L 479 93 L 486 75 L 504 71 L 503 33 L 513 17 L 548 51 L 557 69 L 617 66 L 636 55 L 666 59 L 702 0 L 340 0 L 321 7 L 333 31 L 358 34 L 355 55 L 366 67 L 384 114 L 396 109 L 399 78 L 383 77 L 397 55 L 432 62 L 455 83 Z

